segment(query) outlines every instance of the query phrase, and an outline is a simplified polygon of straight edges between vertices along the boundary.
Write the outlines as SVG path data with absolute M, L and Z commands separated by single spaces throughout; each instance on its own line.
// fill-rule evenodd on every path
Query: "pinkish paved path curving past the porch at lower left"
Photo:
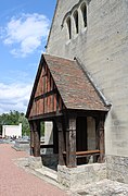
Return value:
M 28 157 L 9 144 L 0 144 L 0 196 L 66 196 L 62 189 L 25 172 L 14 159 Z

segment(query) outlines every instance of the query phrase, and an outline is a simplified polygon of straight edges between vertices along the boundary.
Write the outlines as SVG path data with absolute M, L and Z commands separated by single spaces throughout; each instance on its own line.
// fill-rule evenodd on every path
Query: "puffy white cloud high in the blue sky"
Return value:
M 41 14 L 13 16 L 2 33 L 3 42 L 9 45 L 15 57 L 26 57 L 38 49 L 47 39 L 50 22 Z M 1 30 L 3 32 L 3 30 Z

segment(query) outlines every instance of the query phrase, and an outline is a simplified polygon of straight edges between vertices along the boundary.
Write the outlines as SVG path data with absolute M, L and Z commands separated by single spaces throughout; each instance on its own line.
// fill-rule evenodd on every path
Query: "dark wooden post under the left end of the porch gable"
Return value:
M 40 122 L 34 121 L 34 156 L 40 157 Z

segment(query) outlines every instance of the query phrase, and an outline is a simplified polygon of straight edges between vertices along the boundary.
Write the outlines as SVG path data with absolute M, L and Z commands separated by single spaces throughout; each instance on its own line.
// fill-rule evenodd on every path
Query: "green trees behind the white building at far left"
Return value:
M 2 133 L 2 125 L 18 125 L 22 123 L 22 135 L 29 135 L 29 123 L 23 112 L 10 111 L 0 115 L 0 134 Z

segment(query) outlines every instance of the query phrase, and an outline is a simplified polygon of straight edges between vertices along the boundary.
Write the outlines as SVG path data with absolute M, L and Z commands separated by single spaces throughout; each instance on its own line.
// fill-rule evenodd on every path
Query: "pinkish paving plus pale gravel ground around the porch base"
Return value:
M 87 184 L 80 191 L 64 192 L 59 185 L 21 168 L 21 160 L 25 157 L 28 157 L 26 152 L 0 144 L 0 196 L 128 196 L 128 184 L 110 180 Z M 15 160 L 20 160 L 20 164 Z

